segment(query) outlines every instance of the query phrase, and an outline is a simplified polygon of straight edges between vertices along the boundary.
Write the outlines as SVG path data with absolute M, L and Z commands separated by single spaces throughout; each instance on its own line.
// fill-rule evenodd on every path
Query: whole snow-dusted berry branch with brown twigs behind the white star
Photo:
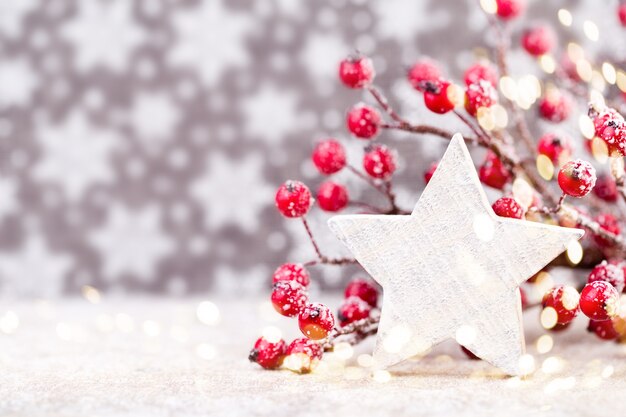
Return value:
M 618 111 L 619 104 L 615 104 L 620 97 L 626 99 L 626 73 L 616 70 L 610 61 L 602 63 L 602 68 L 594 65 L 585 58 L 582 48 L 572 43 L 557 62 L 555 31 L 547 25 L 529 25 L 520 34 L 520 46 L 537 58 L 545 77 L 540 80 L 525 75 L 516 79 L 508 71 L 508 54 L 513 46 L 513 26 L 508 22 L 521 16 L 525 1 L 494 1 L 495 10 L 487 7 L 489 10 L 485 11 L 493 14 L 489 22 L 496 37 L 495 65 L 477 61 L 466 69 L 462 86 L 449 79 L 436 61 L 422 58 L 408 70 L 408 84 L 422 94 L 424 106 L 431 112 L 452 112 L 468 130 L 466 140 L 487 151 L 478 174 L 485 187 L 501 193 L 492 205 L 496 215 L 588 231 L 590 238 L 582 241 L 578 254 L 576 248 L 572 251 L 568 248 L 565 255 L 520 289 L 524 310 L 541 304 L 542 311 L 554 317 L 550 323 L 542 320 L 546 329 L 567 327 L 580 311 L 590 320 L 589 331 L 600 339 L 626 341 L 626 312 L 618 308 L 625 287 L 626 239 L 622 234 L 623 218 L 614 215 L 620 208 L 618 200 L 622 200 L 622 206 L 626 203 L 623 160 L 626 122 Z M 619 6 L 617 15 L 626 26 L 625 4 Z M 598 87 L 598 76 L 606 79 L 602 88 Z M 409 214 L 396 202 L 393 178 L 398 162 L 395 151 L 383 144 L 384 134 L 397 130 L 450 140 L 455 133 L 438 125 L 409 121 L 397 112 L 384 91 L 373 84 L 375 69 L 366 56 L 355 54 L 342 60 L 339 78 L 350 89 L 367 91 L 376 103 L 356 104 L 346 117 L 350 135 L 366 144 L 362 167 L 349 165 L 344 146 L 333 138 L 318 142 L 311 159 L 323 176 L 348 170 L 376 190 L 373 198 L 377 200 L 351 199 L 348 188 L 332 178 L 319 185 L 315 200 L 309 188 L 299 181 L 287 181 L 278 189 L 275 198 L 278 211 L 286 218 L 301 219 L 315 258 L 303 264 L 285 263 L 272 275 L 274 308 L 283 316 L 297 319 L 304 337 L 289 344 L 282 339 L 257 340 L 250 359 L 264 368 L 282 366 L 295 372 L 310 372 L 324 352 L 332 351 L 338 343 L 357 344 L 376 334 L 378 329 L 379 288 L 369 279 L 356 278 L 349 282 L 336 315 L 326 305 L 309 300 L 308 267 L 356 263 L 355 259 L 334 258 L 322 252 L 306 218 L 314 208 L 313 201 L 316 207 L 329 213 L 365 210 L 379 215 Z M 502 93 L 503 105 L 499 104 L 498 91 Z M 586 101 L 590 96 L 595 97 L 594 103 L 578 120 L 584 137 L 582 148 L 587 149 L 593 164 L 573 158 L 573 139 L 552 128 L 574 117 L 574 99 Z M 528 120 L 535 117 L 532 111 L 549 126 L 536 127 L 545 130 L 538 138 L 528 125 Z M 601 167 L 605 161 L 609 161 L 608 174 L 597 175 L 594 165 L 607 171 Z M 432 161 L 425 167 L 426 183 L 437 163 Z M 577 284 L 554 285 L 543 298 L 535 297 L 541 298 L 540 302 L 528 302 L 525 291 L 542 291 L 544 287 L 538 285 L 540 277 L 545 281 L 550 267 L 557 265 L 571 268 Z M 587 276 L 580 272 L 585 267 L 593 267 Z

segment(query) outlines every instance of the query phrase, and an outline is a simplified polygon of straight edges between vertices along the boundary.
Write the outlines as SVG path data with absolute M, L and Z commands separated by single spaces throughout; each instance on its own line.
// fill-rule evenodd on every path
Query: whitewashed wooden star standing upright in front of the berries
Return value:
M 378 367 L 456 338 L 511 375 L 525 351 L 519 285 L 584 233 L 496 216 L 458 134 L 410 215 L 329 226 L 383 287 Z

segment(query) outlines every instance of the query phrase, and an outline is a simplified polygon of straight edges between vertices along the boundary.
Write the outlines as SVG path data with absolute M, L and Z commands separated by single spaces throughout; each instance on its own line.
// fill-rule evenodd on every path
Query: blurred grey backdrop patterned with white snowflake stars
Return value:
M 559 31 L 561 47 L 575 40 L 623 62 L 616 5 L 530 1 L 513 25 L 512 72 L 539 75 L 516 46 L 537 20 Z M 558 24 L 560 7 L 571 28 Z M 598 42 L 582 35 L 587 19 Z M 359 164 L 363 142 L 343 118 L 363 97 L 339 84 L 339 60 L 371 55 L 398 109 L 455 130 L 424 110 L 405 69 L 431 55 L 458 80 L 492 40 L 474 0 L 2 0 L 0 294 L 257 292 L 281 262 L 312 257 L 301 224 L 273 209 L 278 184 L 314 189 L 308 157 L 327 136 Z M 445 143 L 384 140 L 400 150 L 398 191 L 410 207 Z M 376 198 L 346 173 L 337 179 Z M 326 218 L 314 210 L 312 225 L 326 251 L 341 251 Z M 331 288 L 355 272 L 313 274 Z

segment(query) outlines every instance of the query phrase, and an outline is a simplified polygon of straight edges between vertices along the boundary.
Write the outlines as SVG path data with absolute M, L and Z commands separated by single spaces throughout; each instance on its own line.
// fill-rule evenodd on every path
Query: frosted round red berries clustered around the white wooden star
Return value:
M 525 2 L 522 0 L 495 0 L 495 4 L 497 6 L 495 14 L 504 21 L 519 16 L 525 9 Z M 620 6 L 618 15 L 626 26 L 626 6 Z M 521 34 L 521 45 L 532 56 L 547 54 L 555 49 L 556 44 L 556 34 L 547 26 L 530 27 Z M 595 168 L 589 162 L 572 159 L 574 149 L 572 140 L 562 134 L 545 133 L 534 145 L 534 140 L 528 137 L 530 134 L 528 128 L 523 125 L 525 123 L 523 115 L 515 113 L 520 109 L 507 98 L 503 104 L 508 106 L 514 116 L 518 116 L 515 127 L 519 137 L 526 139 L 528 151 L 538 158 L 549 160 L 551 168 L 558 168 L 556 179 L 561 189 L 561 197 L 557 203 L 556 196 L 549 192 L 549 186 L 544 184 L 540 187 L 541 184 L 533 180 L 532 172 L 519 162 L 521 158 L 511 157 L 503 147 L 498 146 L 499 142 L 513 140 L 508 137 L 509 133 L 502 135 L 502 132 L 488 132 L 481 125 L 481 117 L 485 112 L 498 105 L 499 80 L 506 75 L 502 61 L 503 57 L 498 61 L 498 68 L 487 61 L 470 66 L 463 74 L 464 87 L 461 87 L 444 75 L 436 61 L 422 58 L 408 70 L 407 81 L 422 94 L 426 108 L 436 114 L 454 114 L 475 134 L 474 141 L 487 148 L 486 157 L 478 173 L 483 184 L 504 192 L 504 196 L 497 199 L 492 206 L 498 216 L 541 222 L 556 220 L 564 227 L 586 228 L 595 245 L 603 252 L 602 257 L 613 259 L 611 254 L 614 252 L 611 250 L 616 245 L 621 245 L 622 252 L 626 251 L 626 243 L 620 237 L 621 228 L 618 220 L 604 211 L 590 218 L 584 208 L 578 206 L 570 206 L 568 210 L 564 210 L 564 200 L 568 196 L 582 198 L 593 190 L 599 199 L 614 203 L 618 199 L 618 186 L 623 186 L 623 176 L 621 183 L 618 183 L 619 178 L 615 175 L 597 177 Z M 567 56 L 561 60 L 559 73 L 570 82 L 582 82 L 575 63 Z M 344 146 L 333 138 L 318 142 L 311 159 L 322 175 L 330 176 L 347 169 L 365 179 L 381 191 L 392 206 L 389 210 L 366 206 L 367 210 L 379 214 L 405 213 L 395 204 L 391 191 L 391 178 L 397 168 L 396 153 L 393 149 L 380 144 L 377 137 L 385 129 L 400 129 L 417 134 L 430 133 L 448 139 L 451 135 L 435 127 L 412 125 L 399 116 L 373 85 L 375 76 L 372 60 L 362 54 L 350 56 L 339 64 L 341 82 L 348 88 L 369 92 L 380 108 L 379 110 L 372 105 L 359 103 L 349 109 L 346 115 L 346 127 L 351 135 L 367 141 L 362 157 L 364 172 L 348 164 Z M 469 118 L 459 110 L 462 108 Z M 538 102 L 537 110 L 541 118 L 551 123 L 560 123 L 570 117 L 573 99 L 564 89 L 546 88 Z M 586 141 L 587 150 L 595 156 L 597 147 L 604 146 L 607 157 L 621 158 L 626 155 L 626 123 L 620 113 L 608 107 L 590 106 L 588 116 L 593 124 L 594 134 L 592 140 Z M 433 162 L 424 172 L 426 183 L 430 181 L 436 169 L 437 162 Z M 621 169 L 623 171 L 623 167 Z M 523 203 L 515 195 L 515 187 L 511 186 L 511 182 L 520 177 L 520 170 L 521 177 L 530 181 L 532 190 L 530 200 L 526 198 Z M 622 195 L 626 198 L 623 191 Z M 376 320 L 376 314 L 373 313 L 378 302 L 378 290 L 366 280 L 357 279 L 348 285 L 345 299 L 336 316 L 326 305 L 309 301 L 307 288 L 310 276 L 306 266 L 317 263 L 354 262 L 324 256 L 311 233 L 306 215 L 314 201 L 327 212 L 337 212 L 352 203 L 355 205 L 357 203 L 350 200 L 345 185 L 333 180 L 323 182 L 317 189 L 315 197 L 315 199 L 312 197 L 305 184 L 293 180 L 282 184 L 276 193 L 275 202 L 278 211 L 287 218 L 298 218 L 303 222 L 316 251 L 317 260 L 304 265 L 287 263 L 274 272 L 272 304 L 283 316 L 297 318 L 299 328 L 306 337 L 296 339 L 289 345 L 283 340 L 270 341 L 264 338 L 257 340 L 250 353 L 250 360 L 267 369 L 284 366 L 301 373 L 309 372 L 322 357 L 324 349 L 332 349 L 333 339 L 346 334 L 342 333 L 342 329 L 350 329 L 351 332 L 356 334 L 360 332 L 364 335 L 365 327 L 359 325 L 372 324 Z M 544 206 L 543 200 L 548 197 L 551 197 L 549 200 L 553 200 L 555 207 Z M 621 260 L 602 261 L 589 275 L 580 295 L 573 287 L 554 287 L 543 297 L 544 310 L 552 309 L 556 315 L 553 328 L 567 326 L 576 317 L 578 310 L 581 310 L 590 319 L 589 329 L 599 337 L 615 339 L 619 335 L 626 335 L 626 318 L 618 315 L 618 300 L 619 294 L 624 289 L 625 273 L 626 263 Z M 522 302 L 523 305 L 527 305 L 523 292 Z M 471 352 L 466 353 L 474 357 Z

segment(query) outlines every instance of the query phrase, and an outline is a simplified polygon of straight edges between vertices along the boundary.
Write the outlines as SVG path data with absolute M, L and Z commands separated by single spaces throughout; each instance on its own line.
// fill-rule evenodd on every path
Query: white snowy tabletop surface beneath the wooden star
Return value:
M 354 359 L 344 368 L 327 357 L 310 375 L 249 363 L 248 350 L 266 326 L 297 336 L 295 322 L 269 311 L 266 299 L 213 299 L 220 312 L 215 325 L 198 320 L 200 299 L 2 302 L 0 415 L 573 417 L 626 411 L 626 350 L 588 334 L 582 318 L 553 333 L 554 349 L 538 354 L 539 312 L 524 314 L 538 368 L 524 380 L 470 361 L 449 343 L 403 363 L 383 383 Z M 320 299 L 333 307 L 339 301 Z M 371 353 L 372 345 L 355 356 Z

